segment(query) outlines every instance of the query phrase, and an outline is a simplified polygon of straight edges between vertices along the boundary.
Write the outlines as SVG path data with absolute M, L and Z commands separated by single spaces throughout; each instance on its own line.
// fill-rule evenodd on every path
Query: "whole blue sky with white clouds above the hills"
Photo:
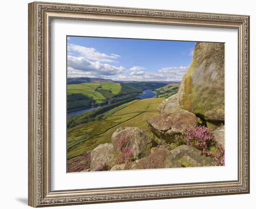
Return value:
M 195 42 L 67 36 L 67 77 L 180 81 Z

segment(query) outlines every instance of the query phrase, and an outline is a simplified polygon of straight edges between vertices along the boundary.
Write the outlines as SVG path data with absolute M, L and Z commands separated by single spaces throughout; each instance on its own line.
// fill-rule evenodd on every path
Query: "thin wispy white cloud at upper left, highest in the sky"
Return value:
M 89 60 L 95 60 L 100 62 L 118 62 L 116 59 L 120 58 L 118 54 L 105 54 L 96 51 L 94 48 L 85 46 L 79 46 L 75 44 L 67 44 L 67 52 L 78 52 L 81 56 Z

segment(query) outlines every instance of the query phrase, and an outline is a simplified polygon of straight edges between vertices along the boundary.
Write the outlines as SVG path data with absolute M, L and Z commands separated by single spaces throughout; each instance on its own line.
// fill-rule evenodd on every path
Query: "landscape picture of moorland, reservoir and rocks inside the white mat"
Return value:
M 224 43 L 67 36 L 67 173 L 225 165 Z

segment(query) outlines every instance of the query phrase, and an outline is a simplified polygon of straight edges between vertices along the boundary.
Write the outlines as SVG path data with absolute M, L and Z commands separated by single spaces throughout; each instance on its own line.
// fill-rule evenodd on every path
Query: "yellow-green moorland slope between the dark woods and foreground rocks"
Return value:
M 120 126 L 148 129 L 145 119 L 158 115 L 163 98 L 133 100 L 104 113 L 107 118 L 67 129 L 67 159 L 93 150 L 99 144 L 111 143 L 111 136 Z

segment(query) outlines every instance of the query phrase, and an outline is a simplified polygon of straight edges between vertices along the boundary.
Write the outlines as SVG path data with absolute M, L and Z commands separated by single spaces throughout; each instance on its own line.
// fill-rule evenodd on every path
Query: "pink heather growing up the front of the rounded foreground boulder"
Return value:
M 117 159 L 117 164 L 129 163 L 133 161 L 133 153 L 130 148 L 127 147 L 130 137 L 122 137 L 117 144 L 117 150 L 121 152 Z

